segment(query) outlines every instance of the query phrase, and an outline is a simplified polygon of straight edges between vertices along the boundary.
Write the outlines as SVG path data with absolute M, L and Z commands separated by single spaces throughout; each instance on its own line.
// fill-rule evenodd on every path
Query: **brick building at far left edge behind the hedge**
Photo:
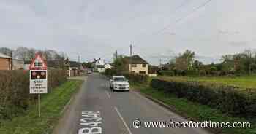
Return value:
M 0 53 L 0 70 L 12 70 L 12 58 Z

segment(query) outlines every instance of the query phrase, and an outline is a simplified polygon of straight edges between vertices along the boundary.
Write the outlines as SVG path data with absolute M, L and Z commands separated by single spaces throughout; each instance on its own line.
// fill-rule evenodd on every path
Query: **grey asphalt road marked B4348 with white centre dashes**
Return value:
M 200 128 L 135 128 L 133 122 L 186 122 L 137 92 L 112 92 L 108 79 L 90 74 L 72 98 L 53 134 L 208 134 Z

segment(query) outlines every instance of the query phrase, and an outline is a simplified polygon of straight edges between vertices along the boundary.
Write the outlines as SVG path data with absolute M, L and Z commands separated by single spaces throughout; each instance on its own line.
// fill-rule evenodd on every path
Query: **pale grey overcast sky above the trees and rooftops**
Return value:
M 256 48 L 253 0 L 0 0 L 0 47 L 66 52 L 72 60 L 113 52 L 158 64 L 189 49 L 205 63 Z

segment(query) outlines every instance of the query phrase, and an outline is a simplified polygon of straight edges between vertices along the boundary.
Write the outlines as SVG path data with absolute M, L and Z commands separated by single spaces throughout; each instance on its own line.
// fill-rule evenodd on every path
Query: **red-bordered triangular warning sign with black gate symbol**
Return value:
M 47 69 L 45 59 L 42 58 L 42 55 L 40 55 L 39 53 L 36 54 L 35 58 L 32 60 L 29 66 L 29 69 L 30 70 L 46 70 Z

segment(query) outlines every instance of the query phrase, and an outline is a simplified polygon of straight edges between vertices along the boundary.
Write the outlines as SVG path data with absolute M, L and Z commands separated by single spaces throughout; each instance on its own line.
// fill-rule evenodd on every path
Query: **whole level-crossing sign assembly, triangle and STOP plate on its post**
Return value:
M 42 55 L 36 54 L 30 68 L 30 93 L 38 94 L 38 116 L 41 117 L 41 94 L 47 93 L 48 71 L 45 60 Z

